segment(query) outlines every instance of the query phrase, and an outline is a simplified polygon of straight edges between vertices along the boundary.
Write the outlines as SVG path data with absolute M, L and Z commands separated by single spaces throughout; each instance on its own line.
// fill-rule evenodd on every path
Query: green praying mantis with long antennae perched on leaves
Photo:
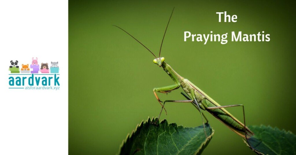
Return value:
M 173 9 L 173 11 L 174 11 L 174 9 Z M 165 33 L 166 33 L 167 29 L 168 29 L 168 25 L 170 23 L 170 19 L 171 19 L 172 15 L 173 15 L 173 11 L 172 11 L 172 13 L 170 15 L 170 18 L 168 20 L 168 24 L 167 24 L 167 26 L 165 28 Z M 116 25 L 113 25 L 113 26 L 116 26 Z M 116 27 L 118 27 L 118 26 L 116 26 Z M 118 27 L 118 28 L 120 28 L 120 27 Z M 120 29 L 123 30 L 122 28 L 120 28 Z M 127 31 L 125 31 L 125 30 L 123 30 L 123 31 L 126 32 L 131 37 L 133 37 Z M 159 67 L 162 67 L 163 70 L 165 71 L 165 73 L 167 73 L 168 76 L 170 76 L 170 78 L 175 83 L 175 84 L 170 85 L 170 86 L 157 87 L 157 88 L 154 88 L 153 89 L 153 93 L 154 93 L 157 101 L 161 105 L 160 114 L 158 115 L 157 118 L 159 119 L 160 118 L 160 115 L 161 115 L 161 113 L 163 111 L 163 109 L 165 110 L 165 108 L 164 108 L 165 103 L 172 103 L 172 102 L 192 103 L 197 108 L 197 110 L 200 112 L 200 115 L 201 115 L 201 118 L 202 118 L 202 124 L 204 126 L 204 131 L 205 131 L 204 118 L 206 120 L 206 123 L 208 123 L 208 120 L 205 117 L 205 115 L 202 113 L 202 110 L 203 111 L 207 111 L 210 114 L 212 114 L 220 122 L 222 122 L 224 125 L 226 125 L 227 127 L 229 127 L 229 129 L 231 129 L 232 131 L 234 131 L 238 135 L 246 138 L 247 143 L 249 143 L 248 142 L 248 138 L 250 138 L 252 135 L 254 135 L 254 133 L 248 127 L 246 127 L 244 105 L 242 105 L 242 104 L 236 104 L 236 105 L 221 106 L 215 100 L 213 100 L 209 95 L 207 95 L 205 92 L 203 92 L 200 88 L 198 88 L 197 86 L 195 86 L 188 79 L 185 79 L 184 77 L 180 76 L 176 71 L 173 70 L 173 68 L 170 65 L 168 65 L 167 63 L 165 63 L 165 58 L 164 57 L 160 57 L 161 47 L 162 47 L 162 44 L 163 44 L 165 33 L 163 35 L 163 39 L 162 39 L 162 42 L 161 42 L 161 45 L 160 45 L 160 50 L 159 50 L 159 56 L 158 57 L 156 57 L 155 54 L 151 50 L 149 50 L 144 44 L 142 44 L 139 40 L 137 40 L 135 37 L 133 37 L 133 39 L 135 39 L 136 41 L 138 41 L 152 55 L 154 55 L 155 59 L 153 60 L 153 63 L 157 64 Z M 158 98 L 157 93 L 156 93 L 156 92 L 169 93 L 169 92 L 171 92 L 173 90 L 176 90 L 176 89 L 178 89 L 180 87 L 182 87 L 182 89 L 186 93 L 185 94 L 185 93 L 182 92 L 181 94 L 184 95 L 184 97 L 187 100 L 165 100 L 164 102 L 162 102 Z M 241 106 L 242 107 L 243 116 L 244 116 L 244 124 L 242 122 L 240 122 L 238 119 L 236 119 L 234 116 L 232 116 L 228 111 L 225 110 L 225 108 L 237 107 L 237 106 Z M 165 110 L 165 112 L 166 112 L 166 110 Z M 158 121 L 158 119 L 157 119 L 157 121 Z M 206 132 L 205 132 L 205 136 L 207 137 Z M 251 146 L 251 145 L 249 144 L 249 146 Z

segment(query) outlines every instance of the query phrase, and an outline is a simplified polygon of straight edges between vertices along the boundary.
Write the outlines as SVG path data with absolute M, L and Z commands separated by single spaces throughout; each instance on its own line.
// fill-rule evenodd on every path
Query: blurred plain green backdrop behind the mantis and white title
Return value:
M 161 106 L 152 89 L 173 84 L 154 57 L 175 8 L 161 56 L 221 105 L 244 104 L 248 125 L 295 127 L 295 1 L 69 1 L 69 154 L 116 154 L 122 140 Z M 237 15 L 219 23 L 215 12 Z M 186 41 L 228 33 L 228 43 Z M 270 34 L 269 42 L 232 42 L 231 31 Z M 161 100 L 184 99 L 175 90 Z M 202 124 L 191 104 L 166 105 L 169 123 Z M 242 108 L 229 108 L 242 121 Z M 252 154 L 242 138 L 213 116 L 204 154 Z

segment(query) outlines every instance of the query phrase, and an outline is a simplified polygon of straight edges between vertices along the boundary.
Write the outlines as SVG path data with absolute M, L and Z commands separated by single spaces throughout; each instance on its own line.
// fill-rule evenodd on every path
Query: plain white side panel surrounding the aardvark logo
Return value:
M 68 1 L 0 1 L 0 54 L 0 154 L 68 154 Z M 60 90 L 8 89 L 32 57 L 59 62 Z

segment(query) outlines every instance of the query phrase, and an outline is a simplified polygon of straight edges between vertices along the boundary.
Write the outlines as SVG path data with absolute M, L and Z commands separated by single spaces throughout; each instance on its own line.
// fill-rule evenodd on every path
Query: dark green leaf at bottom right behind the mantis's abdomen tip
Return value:
M 285 155 L 296 154 L 296 135 L 291 131 L 279 130 L 270 126 L 250 126 L 254 136 L 244 139 L 247 146 L 252 146 L 257 154 Z M 251 148 L 251 147 L 250 147 Z

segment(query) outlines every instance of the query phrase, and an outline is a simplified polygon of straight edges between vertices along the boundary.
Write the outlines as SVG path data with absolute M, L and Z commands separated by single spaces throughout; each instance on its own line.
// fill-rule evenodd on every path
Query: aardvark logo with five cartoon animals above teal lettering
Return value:
M 59 90 L 59 62 L 41 63 L 32 57 L 32 63 L 11 60 L 9 66 L 9 89 Z

